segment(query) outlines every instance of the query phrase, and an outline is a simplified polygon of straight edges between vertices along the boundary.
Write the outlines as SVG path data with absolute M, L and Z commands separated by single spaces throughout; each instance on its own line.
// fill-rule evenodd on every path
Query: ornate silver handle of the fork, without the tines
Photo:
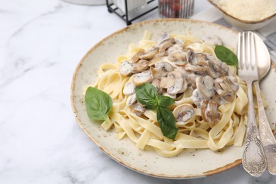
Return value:
M 246 127 L 246 141 L 243 147 L 243 168 L 251 176 L 261 176 L 266 170 L 267 164 L 263 146 L 260 143 L 252 94 L 252 81 L 246 81 L 248 89 L 248 121 Z

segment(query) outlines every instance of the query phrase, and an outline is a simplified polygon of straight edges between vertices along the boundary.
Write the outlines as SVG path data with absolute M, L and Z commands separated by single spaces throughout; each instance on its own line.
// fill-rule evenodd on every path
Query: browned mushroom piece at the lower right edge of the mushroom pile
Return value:
M 209 125 L 214 125 L 220 120 L 217 108 L 217 103 L 208 100 L 203 100 L 200 105 L 202 119 L 208 122 Z

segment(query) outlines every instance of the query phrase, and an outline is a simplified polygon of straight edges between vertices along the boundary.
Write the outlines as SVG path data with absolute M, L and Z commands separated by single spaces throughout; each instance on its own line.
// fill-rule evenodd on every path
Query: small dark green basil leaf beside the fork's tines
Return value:
M 217 58 L 219 58 L 219 60 L 221 60 L 222 62 L 238 67 L 238 57 L 236 57 L 236 54 L 234 54 L 234 52 L 232 52 L 228 48 L 222 45 L 216 45 L 216 47 L 214 48 L 214 53 L 216 53 Z

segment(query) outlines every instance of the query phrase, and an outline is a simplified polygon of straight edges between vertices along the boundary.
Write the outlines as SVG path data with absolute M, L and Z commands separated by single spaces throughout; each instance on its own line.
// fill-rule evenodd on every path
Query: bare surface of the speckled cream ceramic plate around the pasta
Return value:
M 234 146 L 228 146 L 222 151 L 186 149 L 173 158 L 163 158 L 156 154 L 154 150 L 142 151 L 137 149 L 130 139 L 125 138 L 121 141 L 115 139 L 115 130 L 105 132 L 100 127 L 100 123 L 92 122 L 86 115 L 84 86 L 93 84 L 96 81 L 96 74 L 100 64 L 115 62 L 118 55 L 127 52 L 130 43 L 137 43 L 142 39 L 144 30 L 149 30 L 154 33 L 153 37 L 156 37 L 156 35 L 165 32 L 185 34 L 187 29 L 200 38 L 217 35 L 223 40 L 224 45 L 236 47 L 237 33 L 220 25 L 181 19 L 146 21 L 119 30 L 98 42 L 81 59 L 73 76 L 71 105 L 76 115 L 76 121 L 82 130 L 105 154 L 108 154 L 115 161 L 149 176 L 198 178 L 225 171 L 241 163 L 242 148 Z M 268 115 L 270 122 L 276 120 L 275 113 L 272 113 L 276 101 L 276 97 L 272 94 L 272 91 L 276 91 L 275 78 L 275 72 L 271 70 L 262 84 L 265 96 L 269 99 L 270 108 L 268 109 Z

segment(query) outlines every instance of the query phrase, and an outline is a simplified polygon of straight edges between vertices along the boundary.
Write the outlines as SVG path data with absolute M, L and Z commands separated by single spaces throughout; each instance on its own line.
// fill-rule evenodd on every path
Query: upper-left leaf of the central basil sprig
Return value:
M 147 109 L 156 109 L 158 105 L 157 89 L 152 84 L 143 84 L 135 88 L 136 99 Z

